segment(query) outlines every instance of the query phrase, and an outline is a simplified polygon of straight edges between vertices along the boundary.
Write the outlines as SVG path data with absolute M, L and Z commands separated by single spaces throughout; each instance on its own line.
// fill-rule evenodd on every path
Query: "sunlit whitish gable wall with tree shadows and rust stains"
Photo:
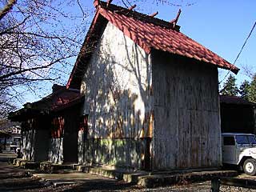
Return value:
M 153 130 L 151 77 L 150 55 L 108 23 L 81 87 L 89 114 L 87 161 L 142 165 Z

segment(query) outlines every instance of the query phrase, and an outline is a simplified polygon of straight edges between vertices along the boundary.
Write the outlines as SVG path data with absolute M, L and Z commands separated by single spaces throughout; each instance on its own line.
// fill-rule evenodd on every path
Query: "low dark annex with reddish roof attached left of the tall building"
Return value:
M 78 161 L 78 90 L 53 86 L 53 93 L 38 102 L 10 113 L 14 122 L 22 122 L 23 158 L 32 162 L 66 163 Z

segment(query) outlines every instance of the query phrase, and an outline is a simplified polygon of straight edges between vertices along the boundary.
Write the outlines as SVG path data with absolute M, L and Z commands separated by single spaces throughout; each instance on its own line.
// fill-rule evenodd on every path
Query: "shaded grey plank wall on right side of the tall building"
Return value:
M 154 169 L 221 166 L 217 67 L 154 51 Z

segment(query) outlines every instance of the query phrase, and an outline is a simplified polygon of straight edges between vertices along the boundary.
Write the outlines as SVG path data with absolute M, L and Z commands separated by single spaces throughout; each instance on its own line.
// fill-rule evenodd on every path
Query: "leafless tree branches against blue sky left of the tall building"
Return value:
M 63 74 L 78 54 L 87 16 L 78 0 L 0 0 L 1 97 L 15 87 L 67 78 Z

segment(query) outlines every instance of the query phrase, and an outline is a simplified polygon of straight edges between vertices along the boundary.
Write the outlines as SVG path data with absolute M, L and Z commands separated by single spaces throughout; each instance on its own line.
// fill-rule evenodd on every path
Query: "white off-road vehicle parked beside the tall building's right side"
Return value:
M 254 134 L 223 133 L 222 162 L 242 166 L 249 175 L 256 174 L 256 139 Z

